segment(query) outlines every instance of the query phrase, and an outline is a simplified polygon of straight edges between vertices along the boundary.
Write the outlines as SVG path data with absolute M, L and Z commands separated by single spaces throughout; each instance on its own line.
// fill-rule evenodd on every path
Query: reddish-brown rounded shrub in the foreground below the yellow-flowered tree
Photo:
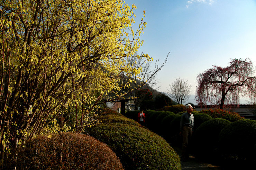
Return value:
M 116 154 L 85 134 L 60 133 L 26 140 L 4 162 L 3 169 L 123 169 Z

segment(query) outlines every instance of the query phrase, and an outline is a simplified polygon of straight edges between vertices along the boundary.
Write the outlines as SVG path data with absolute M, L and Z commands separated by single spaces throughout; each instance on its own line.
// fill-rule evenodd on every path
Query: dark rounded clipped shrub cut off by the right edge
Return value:
M 226 126 L 219 134 L 219 151 L 226 160 L 256 161 L 256 121 L 243 119 Z

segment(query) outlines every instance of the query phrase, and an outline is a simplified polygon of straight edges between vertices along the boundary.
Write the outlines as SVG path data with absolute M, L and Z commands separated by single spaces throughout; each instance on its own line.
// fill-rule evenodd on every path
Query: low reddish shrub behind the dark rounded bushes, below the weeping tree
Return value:
M 199 113 L 204 113 L 210 115 L 212 118 L 222 118 L 229 120 L 230 122 L 235 122 L 237 120 L 244 119 L 244 117 L 241 117 L 239 114 L 235 112 L 229 112 L 222 109 L 209 109 L 209 110 L 201 110 Z

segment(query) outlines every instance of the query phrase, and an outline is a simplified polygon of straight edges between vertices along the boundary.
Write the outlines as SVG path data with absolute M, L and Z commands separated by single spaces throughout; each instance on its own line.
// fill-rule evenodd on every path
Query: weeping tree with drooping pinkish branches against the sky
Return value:
M 197 77 L 197 102 L 218 104 L 239 104 L 240 95 L 256 97 L 256 77 L 249 58 L 231 59 L 230 66 L 213 66 Z

